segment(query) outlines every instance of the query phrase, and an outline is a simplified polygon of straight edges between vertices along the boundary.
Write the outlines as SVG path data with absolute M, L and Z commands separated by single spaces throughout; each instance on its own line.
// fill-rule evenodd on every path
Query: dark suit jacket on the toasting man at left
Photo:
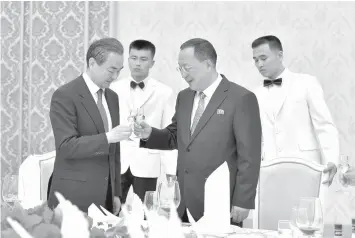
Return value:
M 117 94 L 105 89 L 112 127 L 119 124 Z M 59 87 L 50 106 L 56 160 L 49 207 L 58 191 L 84 212 L 95 203 L 105 206 L 110 174 L 112 195 L 121 195 L 119 143 L 108 144 L 96 102 L 82 76 Z

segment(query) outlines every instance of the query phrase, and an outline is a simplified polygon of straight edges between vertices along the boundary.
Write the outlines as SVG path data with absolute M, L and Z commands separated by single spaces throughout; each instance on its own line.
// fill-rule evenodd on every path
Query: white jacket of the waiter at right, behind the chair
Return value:
M 262 156 L 300 157 L 316 163 L 337 164 L 339 136 L 316 77 L 285 69 L 274 118 L 268 110 L 268 89 L 254 92 L 260 106 Z

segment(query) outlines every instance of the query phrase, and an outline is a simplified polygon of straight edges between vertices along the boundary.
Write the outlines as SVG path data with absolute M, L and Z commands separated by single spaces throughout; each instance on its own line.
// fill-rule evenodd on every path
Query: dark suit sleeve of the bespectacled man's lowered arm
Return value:
M 240 103 L 233 122 L 238 170 L 232 205 L 254 209 L 261 162 L 259 105 L 251 92 L 245 94 Z

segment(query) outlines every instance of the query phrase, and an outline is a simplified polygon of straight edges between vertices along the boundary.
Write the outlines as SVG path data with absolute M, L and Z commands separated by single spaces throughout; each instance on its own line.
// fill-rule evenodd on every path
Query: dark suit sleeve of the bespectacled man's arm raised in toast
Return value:
M 179 93 L 180 95 L 180 93 Z M 179 95 L 176 99 L 175 113 L 170 124 L 164 129 L 152 127 L 152 133 L 147 141 L 140 141 L 140 147 L 157 150 L 174 150 L 178 149 L 177 143 L 177 114 L 179 107 Z

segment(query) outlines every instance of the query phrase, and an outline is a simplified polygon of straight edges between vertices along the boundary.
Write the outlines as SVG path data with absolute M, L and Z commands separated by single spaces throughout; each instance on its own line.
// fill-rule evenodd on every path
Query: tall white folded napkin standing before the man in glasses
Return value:
M 220 165 L 205 183 L 204 215 L 195 222 L 187 210 L 193 229 L 201 234 L 225 234 L 230 226 L 230 181 L 227 162 Z

